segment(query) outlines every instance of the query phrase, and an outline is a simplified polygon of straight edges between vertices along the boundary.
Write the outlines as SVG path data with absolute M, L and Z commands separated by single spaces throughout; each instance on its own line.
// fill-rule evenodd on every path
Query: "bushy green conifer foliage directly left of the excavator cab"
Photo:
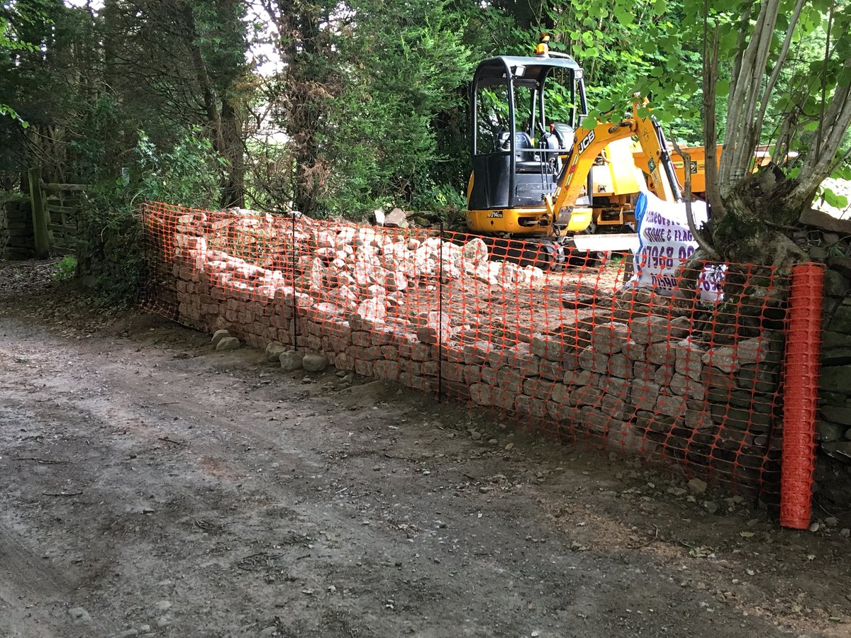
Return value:
M 472 61 L 445 2 L 358 0 L 351 10 L 356 27 L 337 45 L 340 85 L 320 138 L 328 167 L 320 197 L 329 213 L 360 217 L 431 189 L 443 160 L 433 121 L 460 107 L 455 89 Z

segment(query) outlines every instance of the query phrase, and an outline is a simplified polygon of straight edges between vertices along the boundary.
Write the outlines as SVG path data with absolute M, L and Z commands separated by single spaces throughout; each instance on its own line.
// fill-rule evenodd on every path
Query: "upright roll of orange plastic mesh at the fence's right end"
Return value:
M 821 265 L 792 269 L 780 470 L 780 525 L 791 529 L 806 529 L 812 517 L 823 285 Z

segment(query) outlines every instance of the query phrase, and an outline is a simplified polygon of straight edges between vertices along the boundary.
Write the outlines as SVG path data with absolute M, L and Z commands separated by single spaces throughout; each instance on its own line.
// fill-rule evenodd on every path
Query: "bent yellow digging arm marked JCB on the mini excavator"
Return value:
M 644 157 L 647 158 L 648 174 L 652 178 L 655 194 L 667 202 L 682 199 L 665 134 L 653 117 L 638 115 L 638 106 L 639 102 L 636 100 L 632 104 L 631 117 L 625 117 L 620 122 L 605 122 L 594 128 L 576 129 L 574 145 L 565 162 L 557 189 L 551 196 L 544 197 L 547 214 L 554 220 L 555 226 L 568 225 L 574 205 L 587 183 L 591 167 L 603 148 L 616 140 L 633 136 L 638 138 Z M 665 173 L 664 179 L 660 171 Z

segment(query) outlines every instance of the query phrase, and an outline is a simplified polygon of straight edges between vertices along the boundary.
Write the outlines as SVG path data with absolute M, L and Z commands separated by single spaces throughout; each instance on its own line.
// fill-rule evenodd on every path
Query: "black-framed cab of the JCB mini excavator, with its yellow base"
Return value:
M 556 190 L 587 104 L 581 67 L 567 56 L 539 51 L 539 57 L 488 58 L 473 76 L 467 189 L 473 231 L 551 231 L 543 200 Z

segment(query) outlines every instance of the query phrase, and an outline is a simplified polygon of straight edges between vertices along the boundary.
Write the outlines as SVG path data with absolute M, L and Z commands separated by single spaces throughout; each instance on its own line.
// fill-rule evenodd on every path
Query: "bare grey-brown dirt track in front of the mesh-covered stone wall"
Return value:
M 0 636 L 851 635 L 847 513 L 781 530 L 52 272 L 0 262 Z

